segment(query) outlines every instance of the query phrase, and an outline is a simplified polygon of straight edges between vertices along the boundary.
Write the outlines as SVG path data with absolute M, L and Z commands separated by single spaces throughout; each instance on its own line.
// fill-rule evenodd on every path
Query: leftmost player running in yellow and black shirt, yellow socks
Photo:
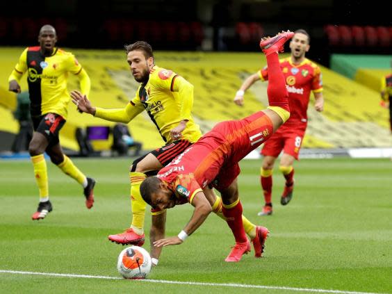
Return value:
M 81 91 L 88 95 L 90 78 L 78 63 L 74 55 L 56 46 L 56 30 L 49 24 L 42 26 L 38 35 L 38 47 L 24 49 L 19 62 L 8 78 L 9 90 L 20 92 L 19 81 L 27 72 L 30 113 L 33 120 L 34 134 L 28 145 L 28 152 L 33 162 L 35 181 L 40 190 L 40 203 L 32 215 L 33 220 L 40 220 L 52 211 L 49 201 L 47 163 L 44 152 L 51 162 L 65 174 L 78 181 L 84 188 L 85 205 L 88 209 L 94 202 L 95 180 L 85 175 L 64 153 L 58 138 L 58 132 L 67 119 L 67 106 L 70 95 L 67 92 L 67 76 L 78 76 Z

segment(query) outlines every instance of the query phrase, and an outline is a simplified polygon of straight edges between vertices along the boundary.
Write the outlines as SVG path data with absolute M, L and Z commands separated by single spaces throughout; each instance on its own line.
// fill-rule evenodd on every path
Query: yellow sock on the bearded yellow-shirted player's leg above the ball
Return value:
M 132 208 L 132 224 L 136 234 L 143 234 L 145 226 L 145 210 L 146 202 L 140 195 L 140 184 L 147 176 L 142 172 L 129 172 L 129 180 L 131 181 L 131 208 Z

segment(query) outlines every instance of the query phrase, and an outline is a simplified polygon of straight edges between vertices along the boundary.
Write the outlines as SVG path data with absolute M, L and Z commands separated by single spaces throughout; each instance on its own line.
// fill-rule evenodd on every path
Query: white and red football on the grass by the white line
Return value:
M 151 268 L 151 256 L 142 247 L 126 247 L 118 256 L 117 270 L 125 279 L 145 279 Z

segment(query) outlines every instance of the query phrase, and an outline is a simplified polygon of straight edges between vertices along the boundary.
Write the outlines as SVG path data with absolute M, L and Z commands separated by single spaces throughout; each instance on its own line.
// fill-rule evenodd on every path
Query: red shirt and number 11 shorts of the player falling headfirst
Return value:
M 261 111 L 243 120 L 220 122 L 156 177 L 168 183 L 181 204 L 191 203 L 209 183 L 218 190 L 227 188 L 240 172 L 238 161 L 268 140 L 272 132 L 270 118 Z

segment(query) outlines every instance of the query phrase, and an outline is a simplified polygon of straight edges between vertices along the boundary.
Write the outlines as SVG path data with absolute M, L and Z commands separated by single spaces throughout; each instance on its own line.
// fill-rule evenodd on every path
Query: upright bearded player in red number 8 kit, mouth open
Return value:
M 299 29 L 294 32 L 291 39 L 291 56 L 280 60 L 280 67 L 286 81 L 288 90 L 288 104 L 290 106 L 290 118 L 261 149 L 263 163 L 261 167 L 261 187 L 265 205 L 259 215 L 272 214 L 272 170 L 275 161 L 281 151 L 279 170 L 286 179 L 284 191 L 281 194 L 281 205 L 286 205 L 293 197 L 294 188 L 294 168 L 295 160 L 298 160 L 302 140 L 307 129 L 307 108 L 311 91 L 315 98 L 314 108 L 322 111 L 324 98 L 322 96 L 322 76 L 320 68 L 305 54 L 310 48 L 310 36 L 307 31 Z M 259 72 L 249 76 L 237 91 L 234 103 L 242 106 L 244 103 L 245 91 L 256 81 L 268 81 L 268 67 L 264 67 Z

